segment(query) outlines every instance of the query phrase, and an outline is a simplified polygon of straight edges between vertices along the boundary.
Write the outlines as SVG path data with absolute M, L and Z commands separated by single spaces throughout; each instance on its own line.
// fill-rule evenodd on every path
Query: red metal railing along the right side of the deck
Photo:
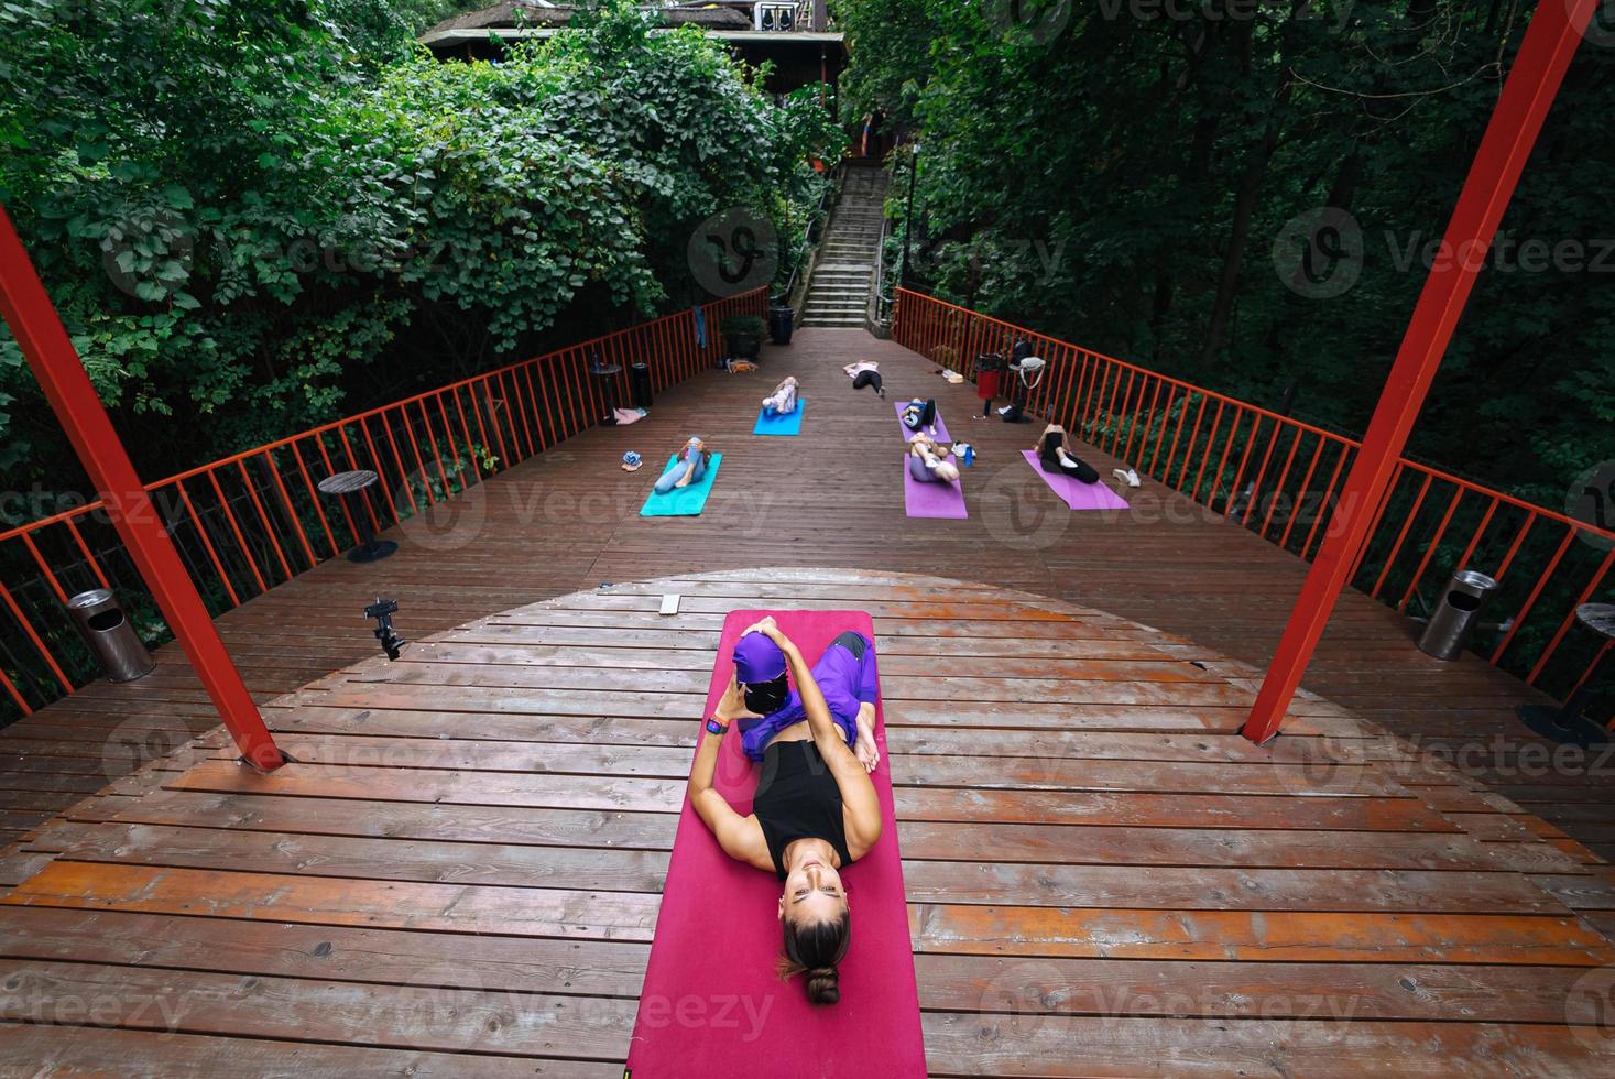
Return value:
M 1029 414 L 1119 457 L 1216 514 L 1310 559 L 1339 499 L 1358 439 L 1203 386 L 1056 341 L 909 289 L 891 338 L 974 373 L 984 352 L 1027 341 L 1043 380 Z M 1605 593 L 1615 531 L 1403 457 L 1378 507 L 1352 581 L 1397 611 L 1434 596 L 1460 567 L 1499 581 L 1481 654 L 1531 685 L 1568 693 L 1600 648 L 1571 635 L 1576 606 Z

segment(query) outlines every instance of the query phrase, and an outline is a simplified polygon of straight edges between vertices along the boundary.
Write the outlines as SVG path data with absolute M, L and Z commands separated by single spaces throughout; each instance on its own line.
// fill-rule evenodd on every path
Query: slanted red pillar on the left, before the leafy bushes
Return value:
M 107 512 L 129 548 L 129 557 L 141 570 L 145 586 L 152 590 L 152 598 L 157 599 L 179 646 L 202 678 L 202 686 L 213 699 L 220 719 L 236 738 L 241 754 L 262 770 L 279 767 L 286 759 L 263 725 L 241 672 L 224 651 L 224 641 L 220 640 L 202 596 L 191 583 L 191 575 L 186 573 L 174 544 L 145 496 L 134 462 L 118 441 L 111 418 L 102 407 L 90 376 L 84 373 L 84 363 L 3 207 L 0 207 L 0 315 L 11 326 L 11 334 L 23 347 L 34 378 L 45 391 L 45 399 L 50 401 L 90 481 L 107 502 Z

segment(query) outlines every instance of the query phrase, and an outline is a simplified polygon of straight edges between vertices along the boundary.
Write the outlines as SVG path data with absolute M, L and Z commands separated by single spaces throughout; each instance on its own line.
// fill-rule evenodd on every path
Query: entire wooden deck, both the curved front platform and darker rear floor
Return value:
M 903 515 L 856 357 L 977 444 L 971 520 Z M 749 438 L 787 370 L 804 435 Z M 717 628 L 761 601 L 875 617 L 935 1074 L 1609 1071 L 1610 869 L 1528 812 L 1609 851 L 1609 775 L 1507 775 L 1529 691 L 1355 594 L 1250 746 L 1302 567 L 1153 488 L 1048 512 L 969 389 L 806 331 L 224 615 L 300 761 L 273 777 L 173 649 L 8 728 L 0 1074 L 622 1074 Z M 690 431 L 725 452 L 707 512 L 640 519 L 617 457 Z M 376 593 L 402 662 L 362 659 Z M 1421 753 L 1494 737 L 1470 774 Z

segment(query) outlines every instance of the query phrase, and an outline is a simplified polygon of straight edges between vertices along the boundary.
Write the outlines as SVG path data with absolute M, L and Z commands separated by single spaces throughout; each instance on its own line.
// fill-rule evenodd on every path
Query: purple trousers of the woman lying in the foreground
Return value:
M 880 764 L 875 749 L 875 644 L 862 633 L 841 633 L 812 667 L 814 682 L 830 706 L 830 719 L 846 735 L 866 772 Z M 753 761 L 762 761 L 764 749 L 782 730 L 808 717 L 801 693 L 785 677 L 785 653 L 764 633 L 746 633 L 735 644 L 735 680 L 746 695 L 746 709 L 754 717 L 736 720 L 740 745 Z

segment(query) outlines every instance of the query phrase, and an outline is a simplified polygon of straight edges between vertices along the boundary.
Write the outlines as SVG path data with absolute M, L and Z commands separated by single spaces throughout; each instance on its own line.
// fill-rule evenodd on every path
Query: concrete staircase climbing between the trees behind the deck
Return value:
M 887 197 L 882 168 L 849 166 L 841 200 L 830 215 L 819 263 L 808 281 L 804 326 L 862 326 L 880 257 L 880 220 Z

